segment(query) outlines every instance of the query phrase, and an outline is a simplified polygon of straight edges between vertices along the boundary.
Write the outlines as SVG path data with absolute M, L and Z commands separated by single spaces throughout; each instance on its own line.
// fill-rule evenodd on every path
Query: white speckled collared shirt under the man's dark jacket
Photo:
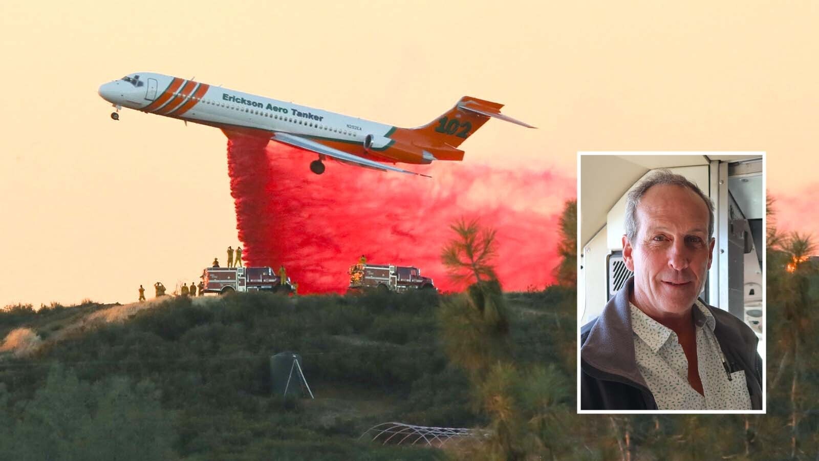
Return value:
M 654 395 L 658 409 L 751 409 L 745 372 L 732 372 L 731 379 L 728 378 L 722 349 L 713 333 L 717 322 L 699 299 L 694 307 L 694 321 L 697 367 L 704 395 L 688 382 L 688 359 L 676 333 L 634 304 L 629 303 L 629 308 L 637 368 Z

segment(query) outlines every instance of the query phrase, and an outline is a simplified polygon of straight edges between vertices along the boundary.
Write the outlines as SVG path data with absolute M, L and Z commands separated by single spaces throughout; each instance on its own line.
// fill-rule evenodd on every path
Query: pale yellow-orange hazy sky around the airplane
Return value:
M 764 150 L 771 193 L 816 189 L 816 2 L 550 3 L 0 2 L 0 306 L 133 301 L 239 243 L 219 130 L 109 118 L 98 86 L 134 71 L 396 126 L 468 94 L 539 127 L 491 121 L 464 168 Z

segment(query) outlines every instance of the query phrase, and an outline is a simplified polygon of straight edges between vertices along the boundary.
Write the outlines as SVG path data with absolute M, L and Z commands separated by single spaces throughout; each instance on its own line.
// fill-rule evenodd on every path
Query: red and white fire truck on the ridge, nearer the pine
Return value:
M 350 274 L 348 290 L 351 291 L 378 289 L 402 293 L 406 290 L 435 289 L 432 279 L 421 276 L 418 267 L 353 264 L 348 273 Z

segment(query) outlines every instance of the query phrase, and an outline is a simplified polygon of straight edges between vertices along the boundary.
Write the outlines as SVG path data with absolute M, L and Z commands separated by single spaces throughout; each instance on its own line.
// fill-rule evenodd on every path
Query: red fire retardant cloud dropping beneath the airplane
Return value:
M 265 139 L 228 142 L 243 258 L 248 266 L 283 264 L 299 293 L 343 292 L 362 254 L 375 264 L 419 267 L 439 289 L 460 290 L 446 276 L 441 249 L 462 217 L 497 230 L 495 267 L 505 290 L 554 282 L 557 223 L 576 195 L 573 178 L 437 162 L 418 168 L 430 179 L 332 160 L 318 176 L 308 168 L 315 158 Z

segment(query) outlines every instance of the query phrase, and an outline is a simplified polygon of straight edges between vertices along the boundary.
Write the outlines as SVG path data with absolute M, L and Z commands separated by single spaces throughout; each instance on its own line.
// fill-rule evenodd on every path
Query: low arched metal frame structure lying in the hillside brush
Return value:
M 443 447 L 450 440 L 455 440 L 453 443 L 458 443 L 467 438 L 489 435 L 486 431 L 468 427 L 428 427 L 414 426 L 403 422 L 382 422 L 364 431 L 359 440 L 371 435 L 373 432 L 375 436 L 371 440 L 383 440 L 382 445 L 387 445 L 387 443 L 415 445 L 423 440 L 424 444 L 435 448 Z

